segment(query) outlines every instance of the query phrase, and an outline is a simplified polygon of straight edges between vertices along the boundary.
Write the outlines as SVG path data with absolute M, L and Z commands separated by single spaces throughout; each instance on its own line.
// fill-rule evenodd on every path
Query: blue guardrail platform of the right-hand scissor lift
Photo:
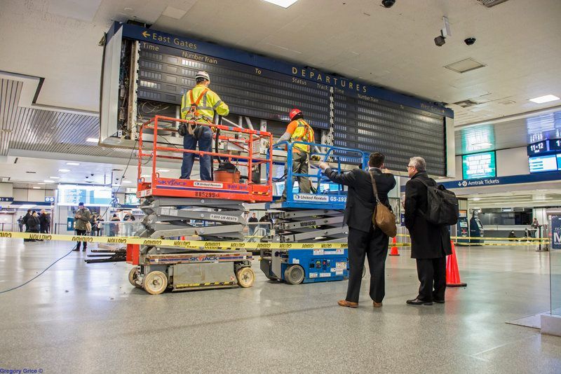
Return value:
M 295 145 L 302 144 L 305 146 L 309 146 L 310 152 L 308 153 L 308 165 L 309 165 L 309 172 L 307 174 L 304 173 L 295 173 L 292 171 L 292 162 L 293 162 L 293 149 Z M 329 193 L 325 193 L 325 191 L 321 191 L 320 185 L 322 182 L 330 182 L 326 176 L 323 175 L 322 170 L 317 167 L 317 165 L 313 165 L 313 162 L 328 162 L 332 169 L 336 170 L 343 170 L 344 165 L 356 165 L 363 169 L 367 169 L 368 165 L 368 158 L 369 153 L 360 151 L 359 149 L 353 148 L 344 148 L 339 146 L 330 146 L 325 144 L 317 144 L 317 143 L 309 143 L 307 141 L 280 141 L 278 144 L 274 144 L 272 150 L 278 151 L 286 151 L 286 162 L 279 162 L 274 161 L 273 165 L 287 165 L 285 174 L 278 179 L 272 179 L 274 182 L 285 181 L 285 188 L 286 191 L 286 201 L 287 202 L 295 202 L 295 193 L 293 192 L 293 177 L 297 178 L 298 176 L 307 176 L 310 179 L 310 183 L 312 186 L 312 191 L 310 195 L 330 195 L 330 198 L 327 201 L 330 202 L 344 202 L 346 199 L 338 198 L 346 196 L 346 191 L 343 190 L 343 186 L 338 186 L 337 190 L 330 191 Z M 315 159 L 315 160 L 313 160 Z M 272 169 L 267 167 L 267 178 L 271 178 L 271 174 L 273 174 Z M 302 194 L 299 193 L 298 197 L 302 197 Z M 322 199 L 314 200 L 311 198 L 308 202 L 324 202 Z

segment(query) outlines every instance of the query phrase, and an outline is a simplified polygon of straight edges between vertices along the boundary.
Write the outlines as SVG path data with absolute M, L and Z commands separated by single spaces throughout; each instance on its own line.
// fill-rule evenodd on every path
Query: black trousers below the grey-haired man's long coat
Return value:
M 446 291 L 446 257 L 417 258 L 419 300 L 444 300 Z

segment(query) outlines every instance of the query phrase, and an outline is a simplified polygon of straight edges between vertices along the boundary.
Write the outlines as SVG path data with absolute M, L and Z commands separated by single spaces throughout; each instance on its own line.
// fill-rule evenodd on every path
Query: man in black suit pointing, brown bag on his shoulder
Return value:
M 369 171 L 374 173 L 378 198 L 382 204 L 390 207 L 388 192 L 396 186 L 396 179 L 384 167 L 384 155 L 379 152 L 372 153 L 368 166 Z M 362 169 L 353 169 L 351 172 L 339 174 L 325 162 L 321 162 L 319 167 L 324 170 L 327 178 L 349 186 L 344 215 L 344 223 L 349 226 L 349 286 L 345 300 L 339 300 L 339 305 L 358 307 L 364 259 L 367 256 L 370 267 L 370 298 L 374 307 L 381 307 L 381 301 L 386 294 L 384 270 L 388 254 L 388 235 L 372 226 L 376 199 L 372 192 L 370 173 Z

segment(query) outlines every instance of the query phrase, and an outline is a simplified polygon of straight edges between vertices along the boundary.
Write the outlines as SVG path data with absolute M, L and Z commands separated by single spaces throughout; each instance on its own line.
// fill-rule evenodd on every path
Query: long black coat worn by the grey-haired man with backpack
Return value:
M 405 184 L 405 227 L 411 235 L 411 258 L 439 258 L 452 254 L 448 226 L 426 221 L 426 186 L 436 186 L 426 172 L 418 172 Z

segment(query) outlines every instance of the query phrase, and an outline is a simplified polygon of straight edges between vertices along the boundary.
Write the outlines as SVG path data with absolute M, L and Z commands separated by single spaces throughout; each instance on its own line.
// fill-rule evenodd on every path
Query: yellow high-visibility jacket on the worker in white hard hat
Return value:
M 191 112 L 191 106 L 196 106 L 194 113 Z M 196 85 L 192 90 L 185 92 L 181 98 L 181 118 L 184 120 L 194 119 L 212 123 L 215 111 L 220 116 L 228 116 L 230 109 L 214 91 L 205 85 Z

